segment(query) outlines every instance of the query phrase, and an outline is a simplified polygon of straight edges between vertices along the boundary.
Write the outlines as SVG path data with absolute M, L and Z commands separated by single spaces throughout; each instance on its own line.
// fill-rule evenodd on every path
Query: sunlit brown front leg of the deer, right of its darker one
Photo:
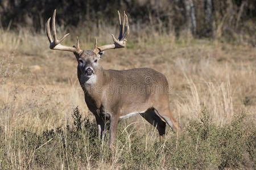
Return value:
M 111 115 L 110 117 L 110 137 L 109 137 L 109 148 L 114 151 L 113 143 L 115 136 L 117 135 L 117 125 L 118 125 L 118 114 Z

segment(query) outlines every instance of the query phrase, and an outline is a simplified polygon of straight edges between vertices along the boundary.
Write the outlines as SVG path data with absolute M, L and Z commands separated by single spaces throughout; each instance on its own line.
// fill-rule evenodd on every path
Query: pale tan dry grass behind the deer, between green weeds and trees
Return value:
M 49 50 L 46 35 L 0 32 L 0 134 L 5 135 L 7 146 L 15 138 L 16 129 L 41 133 L 71 125 L 71 112 L 77 105 L 84 116 L 94 120 L 84 102 L 72 53 Z M 97 32 L 80 37 L 82 48 L 92 48 L 93 35 Z M 75 35 L 71 37 L 64 43 L 72 45 Z M 111 37 L 101 42 L 105 41 L 110 42 Z M 110 50 L 100 62 L 105 69 L 151 67 L 166 75 L 172 87 L 171 112 L 183 127 L 190 120 L 200 120 L 204 108 L 218 125 L 229 123 L 243 111 L 247 112 L 247 118 L 255 120 L 256 50 L 252 46 L 213 44 L 208 40 L 176 39 L 172 34 L 152 33 L 131 37 L 127 49 Z M 131 122 L 125 124 L 135 127 L 133 133 L 146 133 L 146 142 L 158 140 L 155 129 L 146 130 L 147 123 L 142 119 L 140 123 L 130 125 Z M 127 146 L 131 145 L 129 133 L 126 139 Z M 116 147 L 131 149 L 122 148 L 122 143 Z M 121 152 L 116 152 L 118 160 Z M 10 158 L 15 156 L 21 155 Z M 13 164 L 17 164 L 15 160 Z M 109 166 L 118 164 L 104 162 L 97 168 Z M 86 168 L 95 167 L 88 164 Z

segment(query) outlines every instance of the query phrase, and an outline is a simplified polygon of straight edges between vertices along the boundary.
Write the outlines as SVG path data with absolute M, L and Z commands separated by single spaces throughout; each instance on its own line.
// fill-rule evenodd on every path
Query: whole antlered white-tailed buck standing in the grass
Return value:
M 163 74 L 149 68 L 104 70 L 98 62 L 105 50 L 125 48 L 126 38 L 129 35 L 125 12 L 122 21 L 118 12 L 120 26 L 118 40 L 113 34 L 113 44 L 97 46 L 96 40 L 93 50 L 81 50 L 78 37 L 76 46 L 61 45 L 60 42 L 69 33 L 60 40 L 57 39 L 55 15 L 56 10 L 52 15 L 53 39 L 49 27 L 51 18 L 47 22 L 49 48 L 75 54 L 78 62 L 77 76 L 84 91 L 85 102 L 96 117 L 99 138 L 104 136 L 106 120 L 110 120 L 109 147 L 113 150 L 119 118 L 127 118 L 135 114 L 141 114 L 150 124 L 156 126 L 160 140 L 165 134 L 166 123 L 172 130 L 178 130 L 179 125 L 170 112 L 168 82 Z

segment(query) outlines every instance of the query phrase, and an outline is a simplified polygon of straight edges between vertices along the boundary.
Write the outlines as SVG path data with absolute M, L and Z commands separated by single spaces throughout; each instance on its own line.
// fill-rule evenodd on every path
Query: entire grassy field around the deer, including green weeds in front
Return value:
M 80 35 L 81 48 L 92 49 L 97 34 L 73 32 L 63 44 Z M 99 35 L 100 44 L 112 42 L 109 33 Z M 166 75 L 171 112 L 183 128 L 179 137 L 167 128 L 159 142 L 142 117 L 122 120 L 112 161 L 108 137 L 96 138 L 73 54 L 50 50 L 45 34 L 26 29 L 0 30 L 0 49 L 0 169 L 255 168 L 253 46 L 154 32 L 106 52 L 105 69 Z

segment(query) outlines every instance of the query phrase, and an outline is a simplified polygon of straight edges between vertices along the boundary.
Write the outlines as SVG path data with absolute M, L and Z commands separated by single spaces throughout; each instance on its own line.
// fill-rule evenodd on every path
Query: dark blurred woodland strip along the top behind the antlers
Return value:
M 209 16 L 205 11 L 206 2 L 210 3 Z M 189 6 L 187 6 L 189 3 Z M 4 28 L 32 27 L 36 31 L 45 28 L 47 19 L 52 15 L 53 10 L 57 9 L 57 22 L 59 25 L 70 25 L 73 27 L 83 26 L 86 28 L 102 27 L 116 23 L 116 11 L 126 10 L 129 14 L 130 23 L 138 33 L 141 27 L 148 27 L 159 32 L 170 32 L 175 29 L 177 35 L 183 35 L 184 29 L 189 29 L 188 8 L 195 9 L 196 35 L 218 37 L 218 32 L 229 39 L 237 39 L 235 33 L 252 33 L 254 35 L 255 25 L 255 6 L 256 1 L 130 1 L 130 0 L 111 0 L 111 1 L 8 1 L 0 2 L 0 26 Z M 211 25 L 209 28 L 209 25 Z M 210 30 L 215 33 L 209 33 Z M 133 30 L 135 32 L 135 30 Z

